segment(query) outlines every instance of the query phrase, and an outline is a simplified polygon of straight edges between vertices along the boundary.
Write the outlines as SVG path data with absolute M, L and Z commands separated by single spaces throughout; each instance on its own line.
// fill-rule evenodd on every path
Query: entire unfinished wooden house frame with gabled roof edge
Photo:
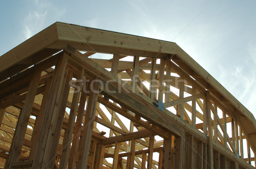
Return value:
M 176 43 L 54 23 L 0 56 L 0 168 L 254 169 L 256 120 Z

